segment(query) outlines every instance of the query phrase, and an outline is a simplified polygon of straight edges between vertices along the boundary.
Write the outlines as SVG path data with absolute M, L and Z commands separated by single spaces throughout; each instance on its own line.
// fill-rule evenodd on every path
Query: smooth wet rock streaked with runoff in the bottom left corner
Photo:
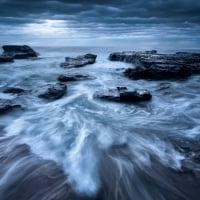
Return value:
M 1 200 L 95 200 L 77 194 L 54 161 L 33 154 L 27 144 L 14 146 L 11 141 L 0 141 Z

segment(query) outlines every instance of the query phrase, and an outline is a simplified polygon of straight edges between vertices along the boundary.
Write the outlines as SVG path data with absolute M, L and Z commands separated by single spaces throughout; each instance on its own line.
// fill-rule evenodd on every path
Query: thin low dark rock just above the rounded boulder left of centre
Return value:
M 58 77 L 58 80 L 61 82 L 68 82 L 68 81 L 80 81 L 90 79 L 91 77 L 88 74 L 62 74 Z

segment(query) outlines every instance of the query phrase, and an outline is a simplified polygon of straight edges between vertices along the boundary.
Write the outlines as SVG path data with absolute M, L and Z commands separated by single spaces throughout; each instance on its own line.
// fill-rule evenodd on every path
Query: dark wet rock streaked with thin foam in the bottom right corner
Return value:
M 141 156 L 142 152 L 138 154 L 129 145 L 115 145 L 103 152 L 99 167 L 102 199 L 199 199 L 200 178 L 167 166 L 151 153 L 148 162 Z

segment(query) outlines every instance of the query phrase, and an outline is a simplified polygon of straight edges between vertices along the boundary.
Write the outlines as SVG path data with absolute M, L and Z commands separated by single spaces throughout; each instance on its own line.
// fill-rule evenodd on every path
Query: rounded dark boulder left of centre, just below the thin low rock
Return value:
M 66 91 L 67 86 L 63 83 L 48 84 L 41 88 L 38 97 L 49 100 L 56 100 L 60 99 L 66 93 Z

